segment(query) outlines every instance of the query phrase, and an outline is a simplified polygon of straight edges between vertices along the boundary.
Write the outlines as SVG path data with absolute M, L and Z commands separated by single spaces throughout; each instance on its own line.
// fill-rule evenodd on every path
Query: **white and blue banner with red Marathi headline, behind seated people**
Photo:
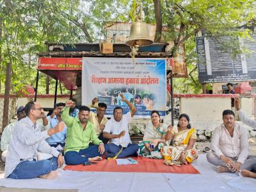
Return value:
M 152 110 L 161 116 L 166 111 L 166 60 L 155 58 L 95 58 L 83 57 L 82 105 L 93 98 L 107 104 L 106 116 L 120 106 L 130 108 L 120 93 L 137 108 L 137 117 L 146 118 Z

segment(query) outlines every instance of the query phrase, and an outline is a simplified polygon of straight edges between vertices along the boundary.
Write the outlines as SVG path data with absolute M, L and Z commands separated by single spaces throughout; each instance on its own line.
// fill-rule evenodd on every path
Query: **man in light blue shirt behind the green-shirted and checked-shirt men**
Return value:
M 59 102 L 55 105 L 54 111 L 51 116 L 47 116 L 46 118 L 49 121 L 49 129 L 57 126 L 58 123 L 62 122 L 62 108 L 65 107 L 65 103 Z M 57 146 L 65 147 L 65 138 L 66 138 L 66 126 L 64 127 L 62 132 L 55 133 L 51 137 L 46 139 L 46 142 L 49 146 L 56 148 Z

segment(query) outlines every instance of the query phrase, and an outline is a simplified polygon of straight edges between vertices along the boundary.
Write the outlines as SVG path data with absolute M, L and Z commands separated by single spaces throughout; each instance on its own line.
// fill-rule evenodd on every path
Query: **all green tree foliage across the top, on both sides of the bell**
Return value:
M 98 43 L 104 38 L 104 25 L 108 21 L 134 21 L 138 3 L 143 7 L 144 21 L 155 24 L 152 0 L 4 0 L 0 2 L 0 91 L 3 91 L 5 65 L 12 63 L 12 93 L 23 85 L 35 86 L 37 52 L 46 51 L 45 41 L 57 43 Z M 175 79 L 175 92 L 199 93 L 194 38 L 198 32 L 218 40 L 219 37 L 249 37 L 251 32 L 243 26 L 255 22 L 253 0 L 162 0 L 161 15 L 164 39 L 179 51 L 185 43 L 187 79 Z M 235 42 L 235 41 L 234 41 Z M 236 50 L 230 41 L 224 47 Z M 236 48 L 236 49 L 233 49 Z M 30 57 L 31 55 L 32 57 Z M 30 59 L 32 58 L 32 59 Z M 45 93 L 45 75 L 40 74 L 39 93 Z M 51 87 L 54 87 L 51 79 Z M 53 93 L 53 92 L 52 92 Z

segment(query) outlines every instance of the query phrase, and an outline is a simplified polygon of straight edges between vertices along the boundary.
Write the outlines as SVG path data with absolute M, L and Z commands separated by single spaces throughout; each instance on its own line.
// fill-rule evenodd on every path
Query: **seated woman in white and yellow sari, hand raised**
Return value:
M 161 153 L 166 165 L 183 165 L 193 162 L 198 152 L 194 148 L 196 143 L 196 130 L 191 129 L 190 118 L 183 113 L 179 116 L 177 127 L 168 126 L 165 140 L 174 140 L 174 146 L 163 146 Z

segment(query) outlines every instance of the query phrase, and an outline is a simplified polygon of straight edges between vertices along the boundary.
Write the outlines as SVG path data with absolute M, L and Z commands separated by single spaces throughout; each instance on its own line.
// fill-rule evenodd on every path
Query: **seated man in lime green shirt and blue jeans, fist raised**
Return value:
M 90 108 L 81 106 L 78 118 L 69 116 L 69 107 L 73 101 L 66 102 L 62 110 L 62 119 L 68 127 L 65 145 L 65 162 L 68 165 L 79 165 L 90 161 L 101 160 L 107 146 L 98 139 L 93 124 L 88 121 Z M 89 146 L 93 141 L 93 146 Z

